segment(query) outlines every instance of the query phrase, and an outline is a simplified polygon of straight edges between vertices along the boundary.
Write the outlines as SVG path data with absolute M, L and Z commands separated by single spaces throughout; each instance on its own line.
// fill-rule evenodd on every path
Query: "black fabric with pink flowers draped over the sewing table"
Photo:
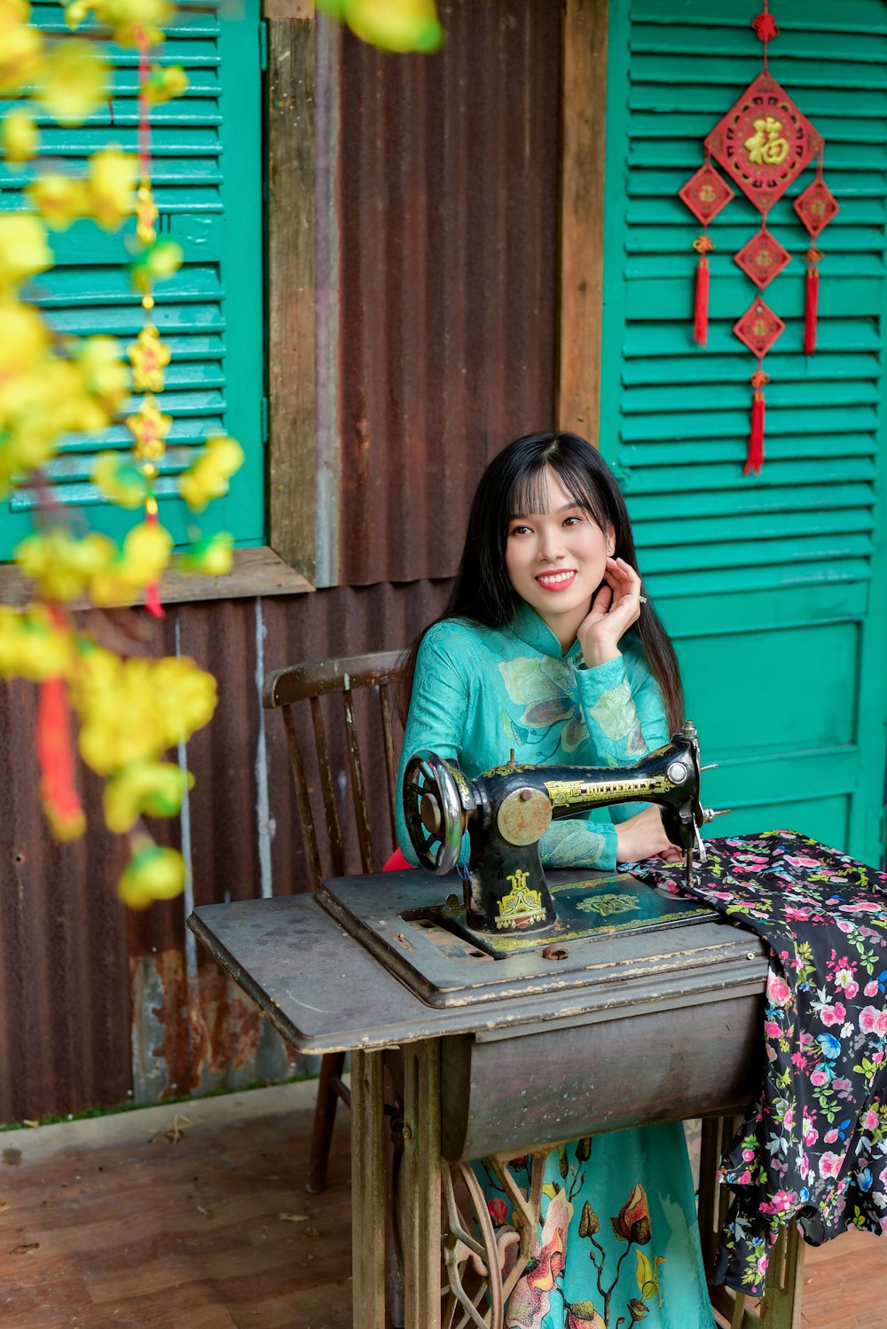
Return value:
M 887 876 L 791 831 L 708 841 L 689 892 L 770 946 L 760 1096 L 722 1160 L 714 1282 L 758 1296 L 779 1229 L 887 1232 Z M 679 865 L 640 864 L 685 893 Z

